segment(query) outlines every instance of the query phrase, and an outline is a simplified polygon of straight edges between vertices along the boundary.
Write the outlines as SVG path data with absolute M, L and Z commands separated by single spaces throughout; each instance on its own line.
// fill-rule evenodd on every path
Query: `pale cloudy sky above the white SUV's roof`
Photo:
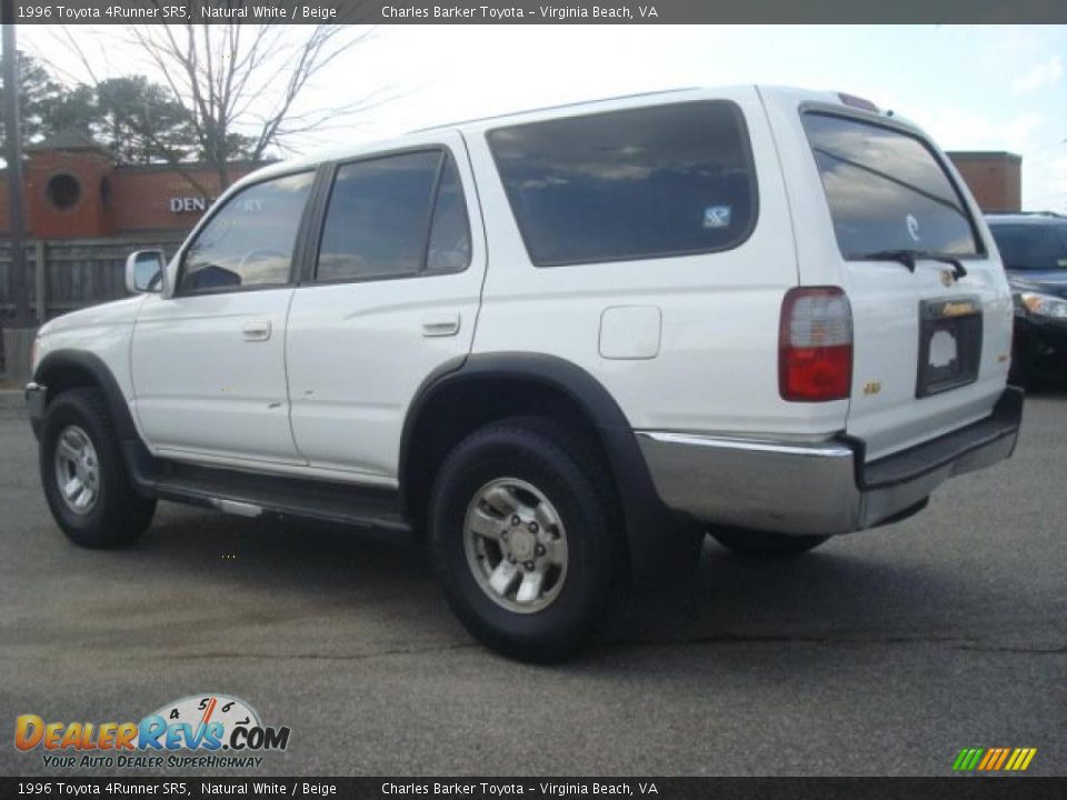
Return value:
M 96 52 L 101 34 L 74 30 Z M 74 66 L 47 28 L 19 36 L 20 48 Z M 107 51 L 103 72 L 134 71 L 132 52 Z M 1024 208 L 1067 212 L 1065 69 L 1057 26 L 383 26 L 301 102 L 329 108 L 381 87 L 396 99 L 299 146 L 629 92 L 779 83 L 860 94 L 946 150 L 1018 153 Z

